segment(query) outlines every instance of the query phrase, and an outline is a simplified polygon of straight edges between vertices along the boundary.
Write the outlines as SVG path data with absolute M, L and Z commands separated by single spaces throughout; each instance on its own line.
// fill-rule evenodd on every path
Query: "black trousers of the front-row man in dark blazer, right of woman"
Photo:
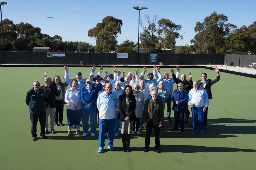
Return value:
M 151 119 L 148 122 L 148 125 L 146 126 L 145 148 L 149 148 L 150 133 L 152 132 L 152 128 L 154 128 L 154 133 L 155 133 L 155 144 L 156 144 L 155 148 L 158 149 L 160 147 L 160 137 L 159 137 L 160 128 L 158 126 L 155 126 L 153 119 Z

